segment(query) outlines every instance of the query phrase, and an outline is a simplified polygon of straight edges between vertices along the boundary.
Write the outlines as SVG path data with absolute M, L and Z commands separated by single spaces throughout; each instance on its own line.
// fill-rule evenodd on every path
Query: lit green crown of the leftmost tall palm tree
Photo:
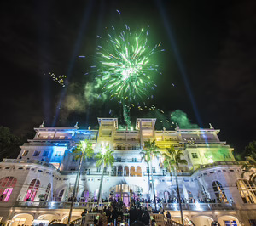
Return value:
M 73 153 L 75 153 L 75 159 L 80 159 L 82 156 L 85 158 L 91 158 L 94 154 L 92 144 L 88 140 L 81 140 L 77 144 L 77 147 L 73 150 Z

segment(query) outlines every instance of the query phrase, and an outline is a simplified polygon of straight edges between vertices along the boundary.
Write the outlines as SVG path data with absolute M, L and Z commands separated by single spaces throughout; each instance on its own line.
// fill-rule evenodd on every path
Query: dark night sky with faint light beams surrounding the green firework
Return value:
M 84 73 L 95 64 L 96 35 L 126 23 L 149 25 L 150 42 L 162 42 L 166 49 L 156 56 L 162 75 L 155 77 L 154 105 L 166 112 L 183 110 L 202 127 L 211 122 L 238 151 L 256 139 L 255 1 L 0 4 L 0 125 L 15 133 L 32 131 L 42 121 L 48 126 L 79 121 L 87 127 L 96 124 L 96 116 L 109 116 L 109 101 L 84 99 L 84 87 L 94 76 Z M 49 72 L 66 75 L 66 88 Z M 111 108 L 119 114 L 118 106 Z

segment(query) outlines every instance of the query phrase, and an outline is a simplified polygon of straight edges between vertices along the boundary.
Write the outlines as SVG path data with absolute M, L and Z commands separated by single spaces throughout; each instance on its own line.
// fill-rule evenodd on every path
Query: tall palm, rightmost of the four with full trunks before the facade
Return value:
M 179 209 L 180 209 L 182 223 L 184 225 L 183 208 L 182 208 L 182 203 L 181 203 L 180 193 L 179 193 L 179 188 L 177 183 L 177 169 L 179 168 L 180 164 L 188 164 L 188 162 L 186 160 L 181 159 L 181 157 L 184 155 L 183 150 L 175 150 L 173 146 L 171 146 L 171 148 L 164 151 L 163 155 L 164 155 L 164 166 L 170 172 L 170 174 L 171 172 L 175 173 L 176 186 L 177 186 L 177 199 L 179 202 Z

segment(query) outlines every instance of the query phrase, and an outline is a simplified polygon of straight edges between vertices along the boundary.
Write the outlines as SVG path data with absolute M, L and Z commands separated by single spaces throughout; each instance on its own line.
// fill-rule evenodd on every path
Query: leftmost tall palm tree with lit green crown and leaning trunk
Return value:
M 72 195 L 72 201 L 71 201 L 70 211 L 68 215 L 68 222 L 70 222 L 70 219 L 71 219 L 74 198 L 76 197 L 79 191 L 79 180 L 81 175 L 82 163 L 86 158 L 90 159 L 94 154 L 91 142 L 88 140 L 79 141 L 76 148 L 73 150 L 73 153 L 75 154 L 74 159 L 75 160 L 80 159 L 80 162 L 79 162 L 79 170 L 78 170 L 77 178 L 73 188 L 73 195 Z

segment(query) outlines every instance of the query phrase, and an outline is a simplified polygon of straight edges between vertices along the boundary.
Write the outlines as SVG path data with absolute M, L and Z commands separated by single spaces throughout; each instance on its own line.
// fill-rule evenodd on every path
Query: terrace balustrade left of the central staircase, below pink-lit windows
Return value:
M 108 206 L 109 202 L 103 202 L 100 206 Z M 68 209 L 71 206 L 71 201 L 16 201 L 15 207 L 26 208 L 46 208 L 46 209 Z M 97 206 L 96 202 L 74 202 L 74 209 L 90 210 Z

